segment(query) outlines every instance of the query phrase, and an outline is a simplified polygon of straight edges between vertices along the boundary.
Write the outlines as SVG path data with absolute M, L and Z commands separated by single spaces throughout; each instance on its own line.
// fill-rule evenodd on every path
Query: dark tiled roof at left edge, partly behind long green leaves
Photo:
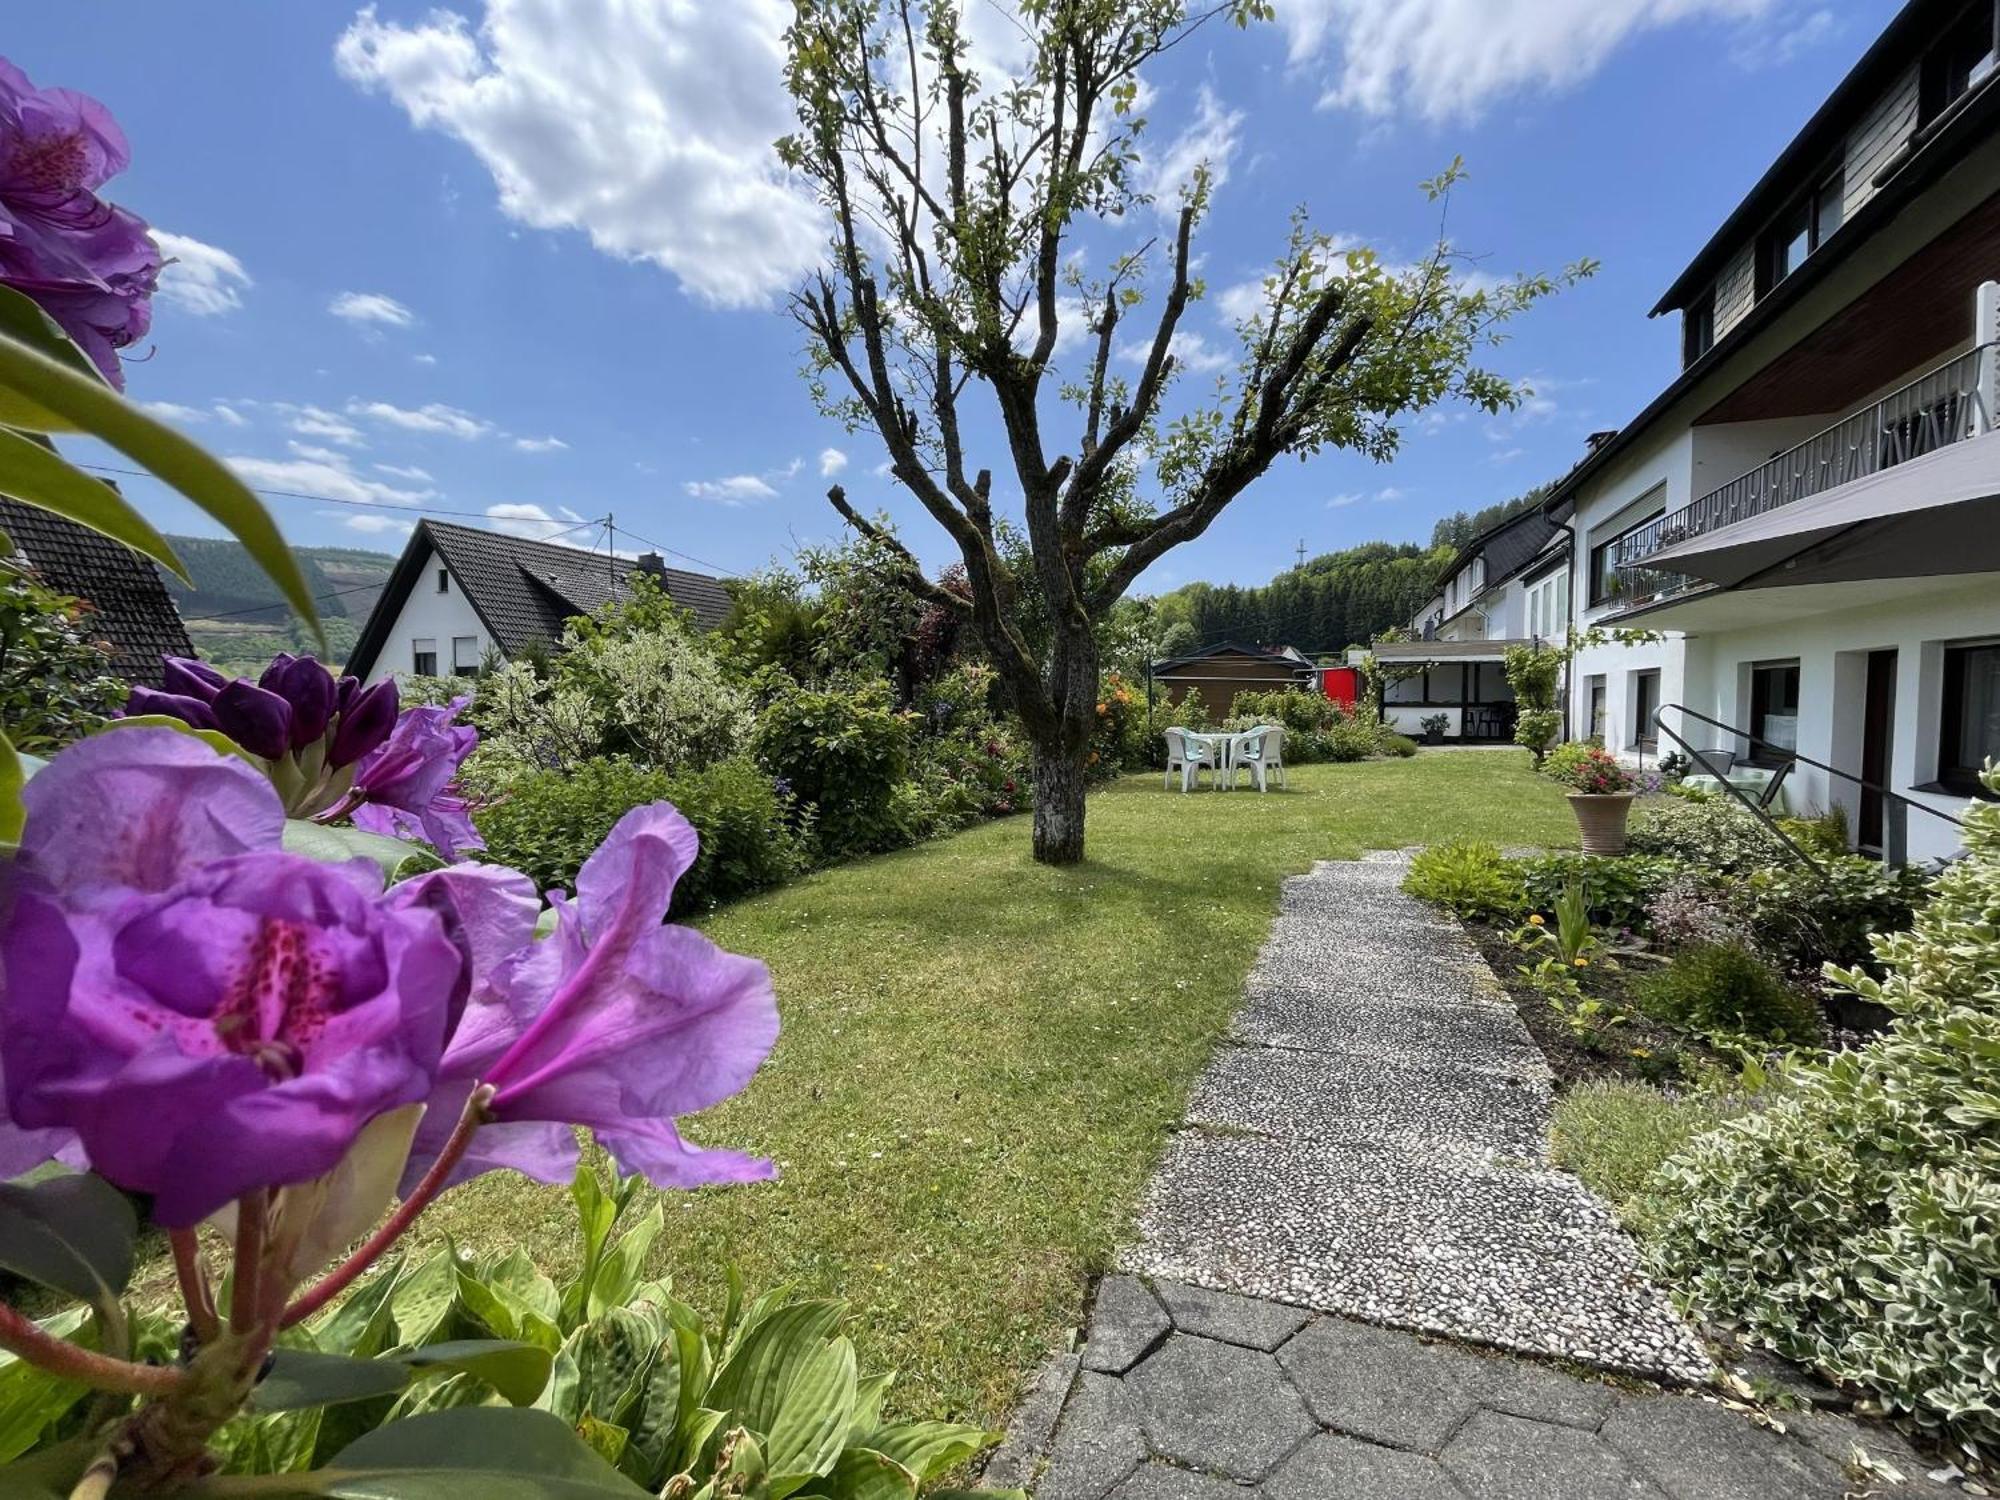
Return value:
M 160 686 L 162 656 L 194 656 L 166 584 L 148 558 L 52 510 L 0 498 L 0 530 L 50 588 L 88 600 L 92 636 L 112 646 L 112 672 Z

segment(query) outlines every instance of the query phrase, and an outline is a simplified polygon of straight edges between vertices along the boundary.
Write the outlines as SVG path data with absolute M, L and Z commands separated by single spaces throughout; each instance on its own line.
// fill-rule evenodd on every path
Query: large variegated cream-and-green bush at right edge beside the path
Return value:
M 2000 792 L 2000 774 L 1986 786 Z M 1654 1268 L 1702 1316 L 2000 1456 L 2000 806 L 1966 814 L 1886 976 L 1828 976 L 1888 1034 L 1786 1074 L 1762 1114 L 1662 1168 Z

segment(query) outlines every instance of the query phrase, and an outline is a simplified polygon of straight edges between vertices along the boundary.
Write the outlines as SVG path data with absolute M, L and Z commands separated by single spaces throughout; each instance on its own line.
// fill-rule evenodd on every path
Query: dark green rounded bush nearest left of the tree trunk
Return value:
M 910 716 L 890 706 L 888 684 L 858 690 L 792 690 L 776 696 L 752 736 L 758 762 L 814 810 L 824 860 L 900 848 L 896 786 L 910 772 Z

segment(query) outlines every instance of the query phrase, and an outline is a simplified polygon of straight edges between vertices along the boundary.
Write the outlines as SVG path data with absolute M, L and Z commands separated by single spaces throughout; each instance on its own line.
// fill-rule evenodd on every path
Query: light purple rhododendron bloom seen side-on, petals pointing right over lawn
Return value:
M 512 1166 L 566 1180 L 576 1166 L 570 1124 L 590 1126 L 624 1170 L 662 1188 L 772 1174 L 770 1162 L 690 1146 L 674 1126 L 748 1084 L 778 1040 L 764 964 L 662 926 L 696 850 L 694 828 L 670 804 L 634 808 L 584 862 L 556 932 L 474 984 L 406 1188 L 476 1082 L 496 1090 L 500 1124 L 478 1134 L 460 1178 Z

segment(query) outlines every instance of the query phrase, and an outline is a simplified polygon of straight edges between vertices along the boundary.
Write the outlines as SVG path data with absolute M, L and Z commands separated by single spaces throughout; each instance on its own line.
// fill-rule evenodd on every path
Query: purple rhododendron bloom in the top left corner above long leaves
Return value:
M 34 298 L 120 390 L 152 326 L 160 248 L 96 190 L 132 160 L 110 110 L 0 58 L 0 282 Z

